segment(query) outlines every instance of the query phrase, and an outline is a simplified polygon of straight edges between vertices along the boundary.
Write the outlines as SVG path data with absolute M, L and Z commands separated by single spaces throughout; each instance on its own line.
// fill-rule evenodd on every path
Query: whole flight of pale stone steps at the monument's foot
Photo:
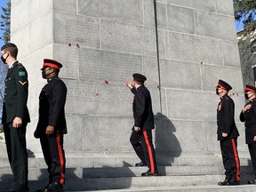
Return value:
M 29 155 L 29 186 L 31 190 L 44 187 L 48 173 L 41 153 Z M 140 177 L 147 167 L 135 167 L 139 159 L 133 153 L 71 153 L 67 152 L 65 191 L 113 190 L 116 191 L 252 191 L 245 186 L 252 180 L 249 156 L 241 156 L 241 185 L 219 187 L 224 180 L 220 155 L 157 154 L 160 176 Z M 246 187 L 246 188 L 245 188 Z M 12 171 L 7 158 L 0 158 L 0 190 L 12 188 Z M 233 189 L 234 188 L 234 189 Z M 242 190 L 243 189 L 243 190 Z

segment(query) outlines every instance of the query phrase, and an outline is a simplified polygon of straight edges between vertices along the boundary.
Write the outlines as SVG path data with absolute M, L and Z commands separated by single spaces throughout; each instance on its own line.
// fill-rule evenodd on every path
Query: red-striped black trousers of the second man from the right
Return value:
M 226 180 L 240 181 L 240 161 L 236 148 L 237 140 L 235 138 L 220 140 L 222 161 L 226 170 Z

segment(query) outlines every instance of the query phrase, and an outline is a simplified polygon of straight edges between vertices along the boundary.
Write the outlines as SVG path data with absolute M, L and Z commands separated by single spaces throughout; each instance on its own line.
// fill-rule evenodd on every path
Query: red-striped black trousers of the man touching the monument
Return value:
M 155 149 L 152 142 L 152 132 L 149 131 L 140 131 L 134 132 L 132 130 L 132 135 L 130 137 L 132 147 L 135 150 L 137 156 L 140 157 L 140 160 L 143 164 L 147 164 L 149 171 L 151 173 L 156 172 L 156 155 Z

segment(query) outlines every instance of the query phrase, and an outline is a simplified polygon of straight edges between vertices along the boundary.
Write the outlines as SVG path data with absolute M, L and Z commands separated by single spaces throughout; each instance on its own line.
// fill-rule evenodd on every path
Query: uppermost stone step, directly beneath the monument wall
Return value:
M 157 156 L 158 166 L 220 166 L 220 156 Z M 131 167 L 138 163 L 136 156 L 67 156 L 67 167 Z M 240 157 L 242 166 L 251 165 L 250 157 Z M 9 167 L 7 158 L 0 158 L 0 168 Z M 29 167 L 44 168 L 45 162 L 42 156 L 29 157 Z

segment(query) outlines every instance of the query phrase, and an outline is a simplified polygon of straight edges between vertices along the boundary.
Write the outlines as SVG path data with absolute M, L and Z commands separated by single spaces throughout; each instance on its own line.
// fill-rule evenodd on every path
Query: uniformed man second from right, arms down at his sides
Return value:
M 239 185 L 240 184 L 240 162 L 237 153 L 237 137 L 239 132 L 234 120 L 235 103 L 228 96 L 232 87 L 219 80 L 216 87 L 216 94 L 220 96 L 220 103 L 217 108 L 217 137 L 220 140 L 220 149 L 225 168 L 226 178 L 219 182 L 219 185 Z

